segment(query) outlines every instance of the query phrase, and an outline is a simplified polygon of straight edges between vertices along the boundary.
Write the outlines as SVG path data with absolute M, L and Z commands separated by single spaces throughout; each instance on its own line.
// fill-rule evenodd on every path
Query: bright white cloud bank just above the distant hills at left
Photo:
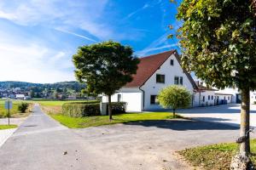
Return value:
M 52 56 L 52 57 L 51 57 Z M 0 42 L 0 81 L 61 82 L 74 80 L 71 59 L 36 43 L 29 46 Z M 59 65 L 58 65 L 59 63 Z

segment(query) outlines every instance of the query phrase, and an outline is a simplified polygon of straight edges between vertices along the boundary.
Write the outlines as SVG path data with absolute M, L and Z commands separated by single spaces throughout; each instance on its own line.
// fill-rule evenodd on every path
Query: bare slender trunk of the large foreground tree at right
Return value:
M 240 136 L 247 136 L 248 138 L 241 143 L 240 154 L 247 155 L 250 153 L 250 138 L 248 130 L 250 128 L 250 89 L 241 89 L 241 126 Z

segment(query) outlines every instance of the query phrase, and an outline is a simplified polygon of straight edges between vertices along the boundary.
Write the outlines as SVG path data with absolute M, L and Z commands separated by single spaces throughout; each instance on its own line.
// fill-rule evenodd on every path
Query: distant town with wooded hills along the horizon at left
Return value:
M 40 84 L 31 82 L 0 82 L 2 99 L 84 99 L 81 93 L 85 85 L 79 82 L 56 82 Z

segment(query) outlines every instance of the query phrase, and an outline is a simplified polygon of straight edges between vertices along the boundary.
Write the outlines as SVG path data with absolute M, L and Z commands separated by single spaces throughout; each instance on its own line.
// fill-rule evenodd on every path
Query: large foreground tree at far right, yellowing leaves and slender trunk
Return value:
M 250 90 L 256 89 L 256 20 L 253 1 L 183 0 L 177 31 L 183 52 L 183 68 L 217 88 L 241 90 L 240 153 L 250 152 Z M 255 4 L 255 1 L 254 1 Z

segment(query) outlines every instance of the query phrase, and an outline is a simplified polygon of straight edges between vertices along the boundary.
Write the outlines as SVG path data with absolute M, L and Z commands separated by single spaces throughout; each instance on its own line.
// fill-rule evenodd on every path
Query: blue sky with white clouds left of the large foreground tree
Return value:
M 137 57 L 177 49 L 175 14 L 169 0 L 1 0 L 0 81 L 75 80 L 77 48 L 106 40 Z

